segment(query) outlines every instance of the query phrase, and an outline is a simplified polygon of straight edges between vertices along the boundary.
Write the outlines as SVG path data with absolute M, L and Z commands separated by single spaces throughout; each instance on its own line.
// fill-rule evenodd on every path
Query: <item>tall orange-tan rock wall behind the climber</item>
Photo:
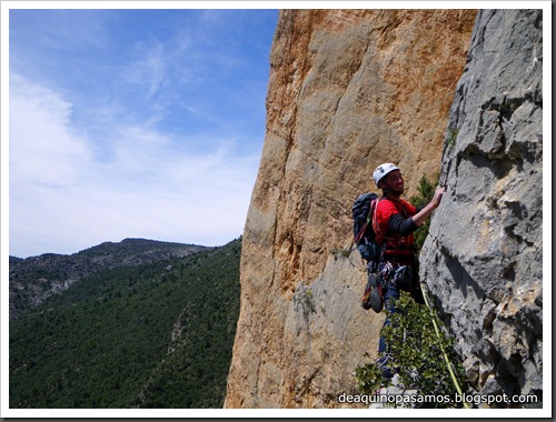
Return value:
M 401 167 L 408 195 L 438 175 L 475 16 L 280 12 L 227 408 L 334 408 L 353 391 L 383 315 L 359 305 L 350 207 L 381 162 Z

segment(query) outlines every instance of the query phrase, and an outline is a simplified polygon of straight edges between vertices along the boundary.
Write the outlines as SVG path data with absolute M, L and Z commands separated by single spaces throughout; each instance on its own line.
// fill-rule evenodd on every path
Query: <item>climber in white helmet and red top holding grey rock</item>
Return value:
M 374 171 L 373 179 L 383 190 L 373 217 L 373 228 L 376 241 L 381 248 L 379 272 L 381 289 L 371 294 L 381 294 L 387 311 L 395 312 L 395 303 L 399 299 L 400 290 L 408 291 L 417 303 L 424 303 L 418 280 L 418 262 L 415 254 L 414 231 L 416 231 L 433 211 L 440 204 L 446 188 L 437 188 L 433 200 L 420 209 L 416 209 L 406 200 L 404 193 L 404 178 L 399 168 L 393 163 L 384 163 Z M 380 304 L 381 307 L 381 304 Z M 390 323 L 387 318 L 385 325 Z M 386 351 L 384 338 L 380 338 L 378 352 Z M 391 372 L 384 372 L 391 376 Z

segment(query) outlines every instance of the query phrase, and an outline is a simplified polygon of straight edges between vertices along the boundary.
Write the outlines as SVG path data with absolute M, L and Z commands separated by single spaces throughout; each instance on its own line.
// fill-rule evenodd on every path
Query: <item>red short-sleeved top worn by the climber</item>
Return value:
M 384 248 L 386 242 L 385 261 L 397 262 L 413 259 L 415 253 L 413 232 L 401 235 L 388 227 L 388 221 L 394 214 L 400 214 L 404 219 L 407 219 L 416 213 L 417 209 L 403 199 L 380 198 L 378 201 L 373 217 L 373 228 L 375 229 L 377 243 Z

